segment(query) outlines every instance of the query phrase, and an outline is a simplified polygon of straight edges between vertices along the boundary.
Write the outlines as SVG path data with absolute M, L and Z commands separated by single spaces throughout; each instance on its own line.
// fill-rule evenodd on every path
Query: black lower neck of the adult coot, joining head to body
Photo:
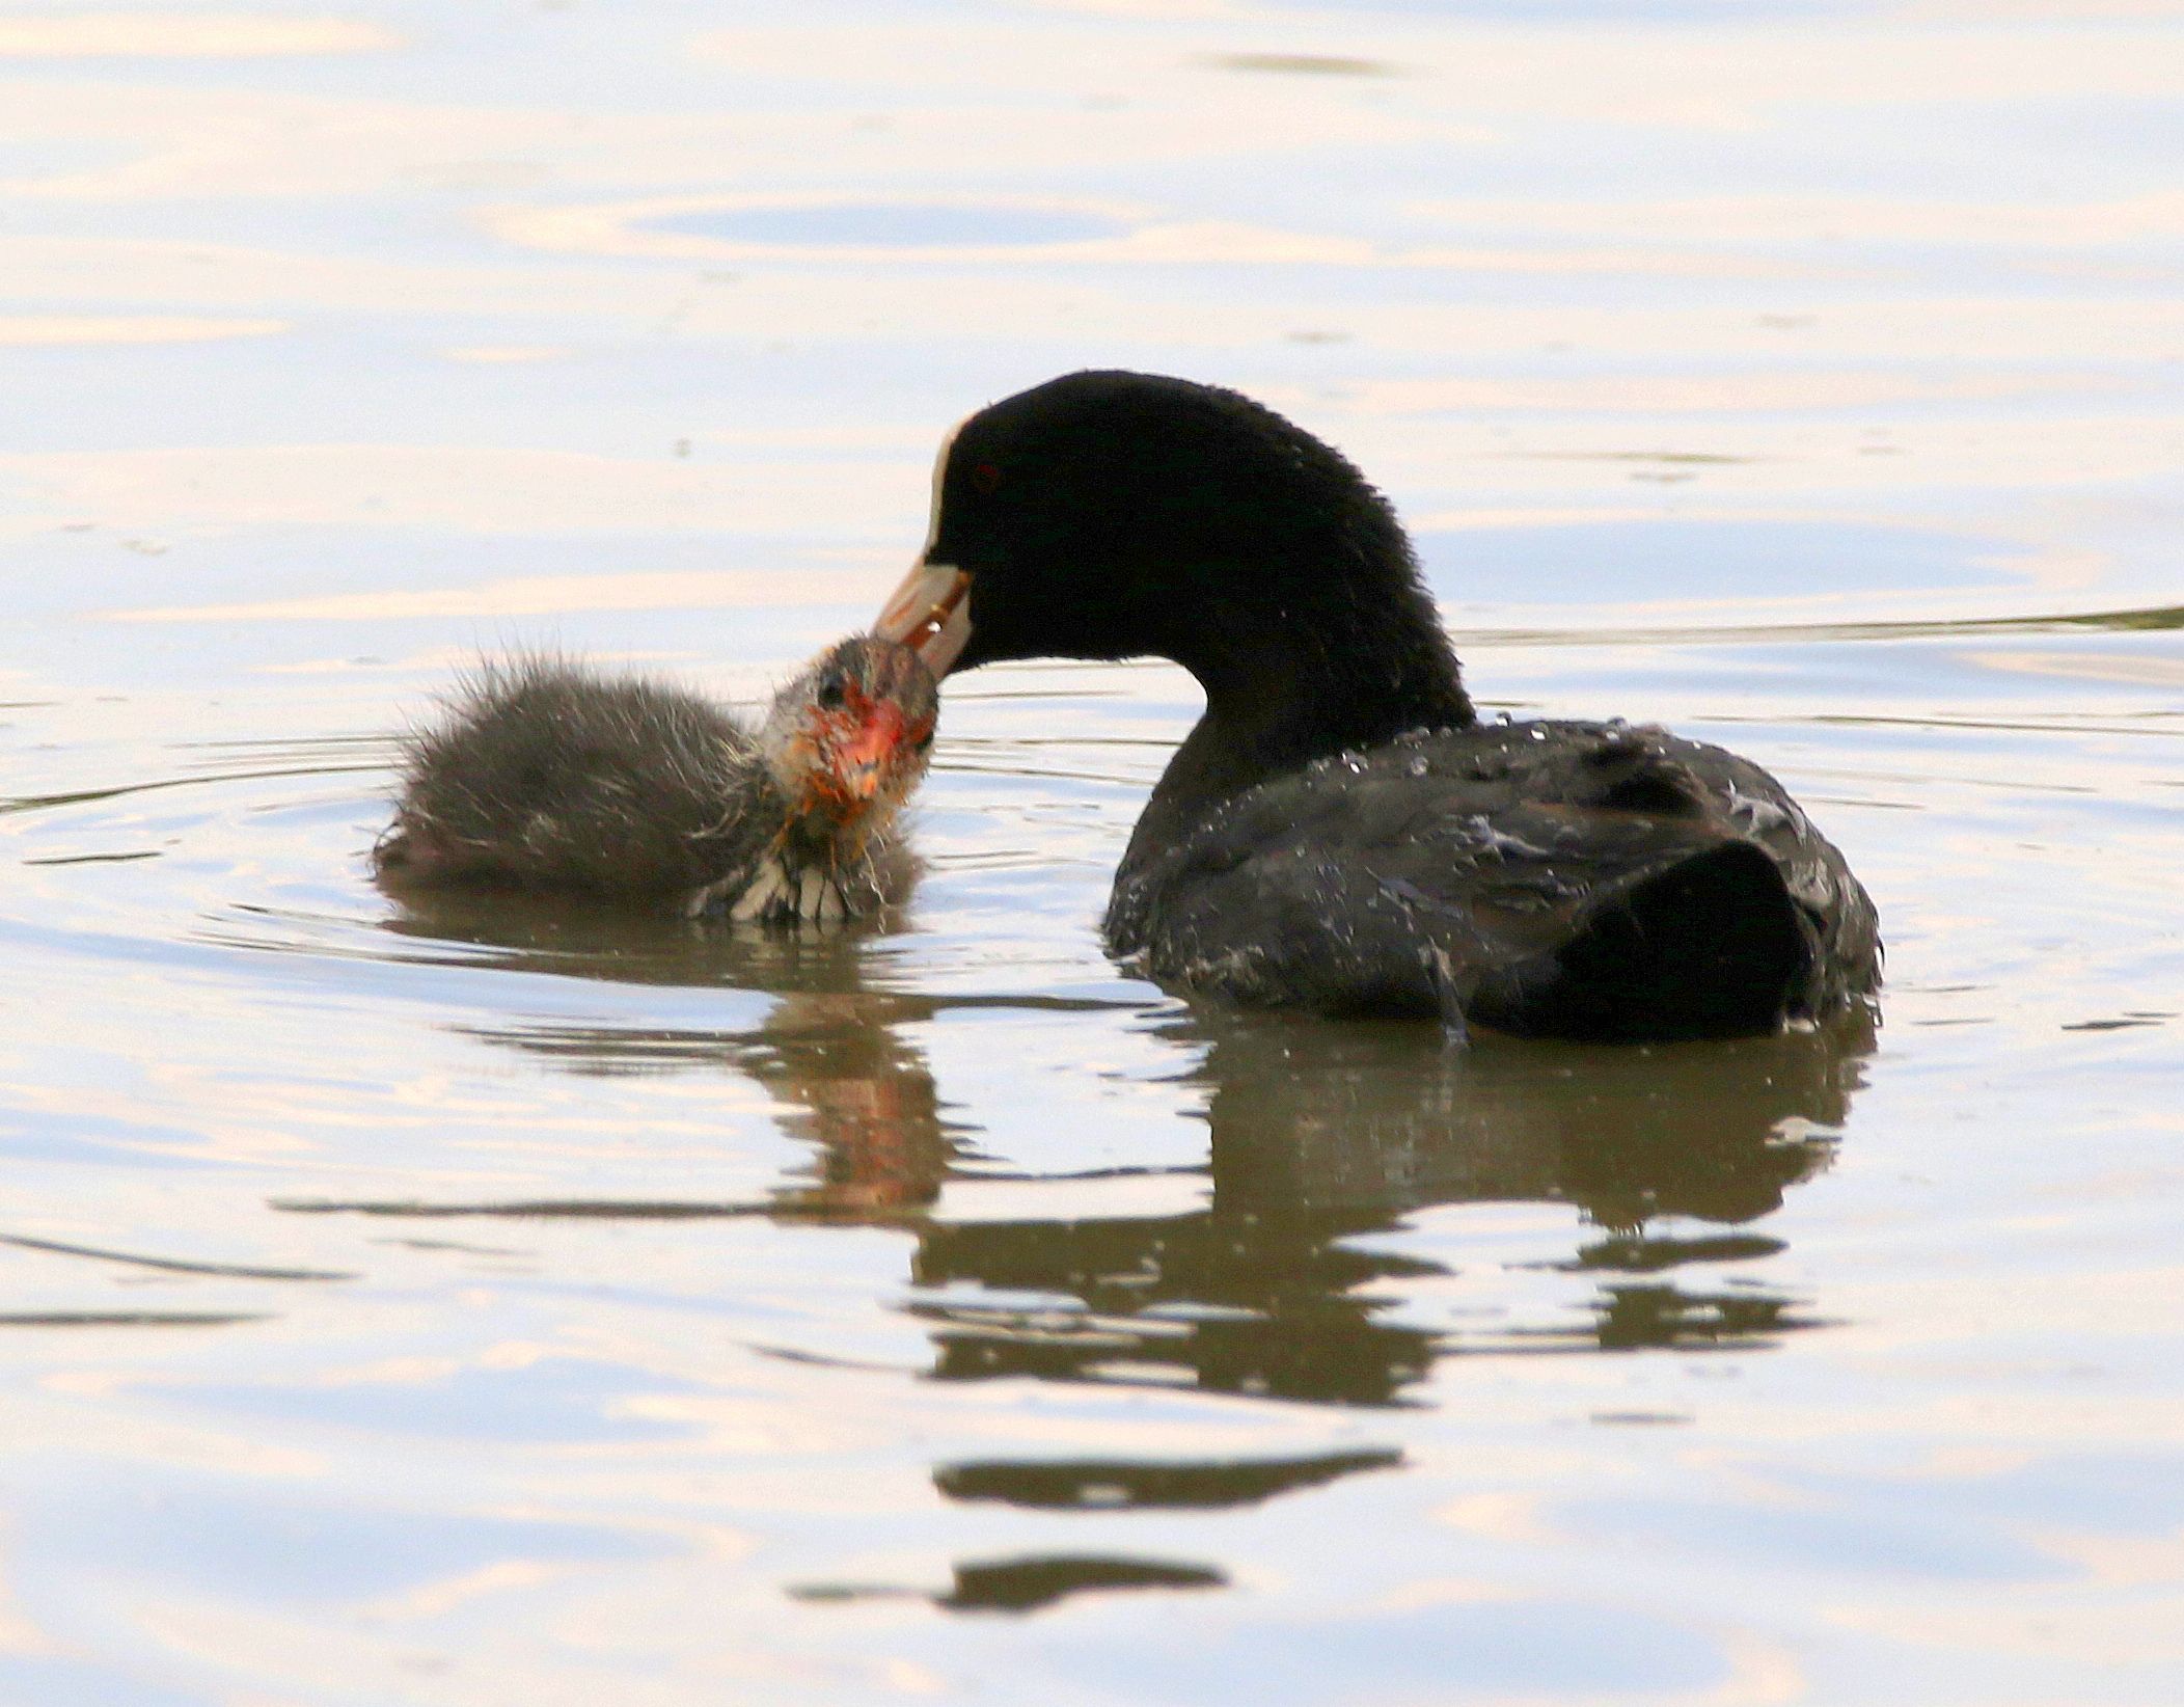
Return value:
M 1153 789 L 1133 852 L 1315 758 L 1474 721 L 1448 636 L 1409 562 L 1369 590 L 1341 577 L 1289 586 L 1306 592 L 1214 612 L 1168 647 L 1206 688 L 1206 715 Z

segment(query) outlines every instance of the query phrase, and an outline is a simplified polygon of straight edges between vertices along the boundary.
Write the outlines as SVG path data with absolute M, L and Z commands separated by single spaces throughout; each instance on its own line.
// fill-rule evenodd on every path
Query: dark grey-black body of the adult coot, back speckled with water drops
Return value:
M 1756 765 L 1529 723 L 1275 778 L 1125 870 L 1109 942 L 1166 981 L 1555 1036 L 1723 1036 L 1872 986 L 1872 905 Z

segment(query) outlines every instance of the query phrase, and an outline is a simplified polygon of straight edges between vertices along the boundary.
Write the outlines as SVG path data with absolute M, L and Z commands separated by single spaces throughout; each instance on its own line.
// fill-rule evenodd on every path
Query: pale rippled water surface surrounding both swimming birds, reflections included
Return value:
M 2184 1694 L 2180 22 L 0 13 L 0 1698 Z M 463 658 L 758 699 L 1085 363 L 1778 769 L 1883 1025 L 1123 977 L 1160 667 L 950 686 L 887 929 L 371 890 Z

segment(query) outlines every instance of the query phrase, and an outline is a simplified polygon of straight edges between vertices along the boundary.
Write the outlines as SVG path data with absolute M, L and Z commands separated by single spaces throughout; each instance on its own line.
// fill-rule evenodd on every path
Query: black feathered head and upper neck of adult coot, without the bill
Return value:
M 1002 658 L 1184 664 L 1269 691 L 1470 706 L 1402 525 L 1341 452 L 1236 391 L 1066 374 L 963 422 L 935 470 L 926 564 L 968 573 L 954 669 Z

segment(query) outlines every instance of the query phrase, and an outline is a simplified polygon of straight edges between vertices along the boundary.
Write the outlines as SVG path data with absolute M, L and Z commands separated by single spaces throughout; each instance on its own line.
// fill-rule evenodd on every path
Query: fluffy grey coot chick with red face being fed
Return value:
M 653 682 L 546 658 L 487 664 L 408 739 L 373 866 L 395 890 L 850 918 L 906 881 L 891 826 L 926 772 L 937 708 L 917 656 L 871 636 L 821 654 L 758 730 Z

